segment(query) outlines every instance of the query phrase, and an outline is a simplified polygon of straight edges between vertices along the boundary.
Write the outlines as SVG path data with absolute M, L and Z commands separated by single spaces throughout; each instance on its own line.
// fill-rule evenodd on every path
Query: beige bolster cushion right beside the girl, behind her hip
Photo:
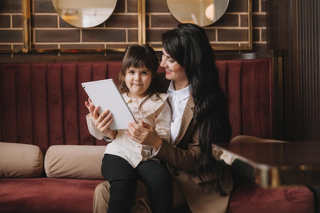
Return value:
M 51 178 L 104 179 L 101 163 L 105 146 L 54 145 L 44 156 L 44 171 Z

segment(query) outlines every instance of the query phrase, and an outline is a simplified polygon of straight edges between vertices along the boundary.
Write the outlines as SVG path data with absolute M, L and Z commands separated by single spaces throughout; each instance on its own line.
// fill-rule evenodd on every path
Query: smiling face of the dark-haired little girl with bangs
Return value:
M 125 76 L 126 85 L 129 89 L 128 96 L 131 99 L 142 99 L 145 97 L 151 80 L 151 71 L 146 66 L 128 68 Z

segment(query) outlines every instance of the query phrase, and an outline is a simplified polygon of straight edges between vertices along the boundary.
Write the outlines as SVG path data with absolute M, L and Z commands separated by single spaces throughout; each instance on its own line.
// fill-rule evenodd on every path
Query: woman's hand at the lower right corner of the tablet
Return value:
M 128 132 L 126 132 L 126 134 L 132 140 L 136 141 L 136 143 L 148 145 L 157 151 L 163 143 L 161 137 L 159 137 L 155 129 L 147 123 L 141 121 L 141 125 L 142 126 L 131 121 L 128 122 Z

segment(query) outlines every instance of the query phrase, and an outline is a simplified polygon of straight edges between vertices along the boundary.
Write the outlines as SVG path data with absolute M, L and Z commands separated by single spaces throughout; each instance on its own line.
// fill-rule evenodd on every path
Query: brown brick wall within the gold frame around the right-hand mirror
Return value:
M 156 47 L 161 46 L 162 32 L 175 27 L 179 22 L 169 12 L 165 0 L 147 0 L 146 15 L 146 42 Z M 230 0 L 225 14 L 204 28 L 212 46 L 249 46 L 248 1 Z

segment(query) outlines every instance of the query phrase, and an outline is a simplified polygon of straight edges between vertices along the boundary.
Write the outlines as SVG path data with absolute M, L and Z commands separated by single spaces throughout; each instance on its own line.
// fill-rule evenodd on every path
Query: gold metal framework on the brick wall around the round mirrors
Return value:
M 124 52 L 125 49 L 31 49 L 30 0 L 22 1 L 23 48 L 0 50 L 0 53 L 71 53 L 71 52 Z M 252 0 L 248 1 L 248 46 L 212 46 L 213 50 L 252 50 Z M 138 44 L 146 44 L 146 2 L 138 0 Z M 162 48 L 153 48 L 162 51 Z

